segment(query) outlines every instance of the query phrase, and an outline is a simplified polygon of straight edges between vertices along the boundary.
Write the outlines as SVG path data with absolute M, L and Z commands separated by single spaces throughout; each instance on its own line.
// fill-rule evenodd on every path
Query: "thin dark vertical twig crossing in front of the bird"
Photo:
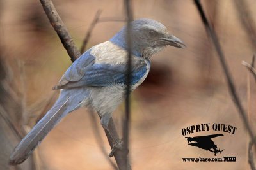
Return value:
M 123 123 L 123 138 L 124 138 L 124 149 L 129 149 L 129 129 L 130 129 L 130 116 L 131 116 L 131 106 L 130 106 L 130 90 L 131 90 L 131 54 L 132 54 L 132 36 L 131 36 L 131 22 L 132 22 L 132 8 L 131 8 L 131 1 L 124 0 L 125 6 L 125 13 L 127 17 L 127 34 L 126 34 L 126 41 L 127 41 L 127 72 L 126 72 L 126 92 L 125 92 L 125 118 Z M 124 152 L 124 154 L 126 154 Z M 129 166 L 129 155 L 124 155 L 125 158 L 125 169 L 131 169 Z

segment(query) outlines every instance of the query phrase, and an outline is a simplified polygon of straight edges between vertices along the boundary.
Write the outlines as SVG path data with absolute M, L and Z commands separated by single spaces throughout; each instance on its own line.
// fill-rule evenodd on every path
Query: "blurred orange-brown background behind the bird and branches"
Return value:
M 100 18 L 124 18 L 122 1 L 53 1 L 77 47 L 97 10 Z M 241 4 L 245 4 L 242 6 Z M 220 38 L 228 66 L 244 108 L 248 110 L 250 80 L 250 122 L 255 122 L 255 81 L 241 62 L 251 62 L 256 32 L 244 29 L 244 20 L 255 27 L 256 1 L 202 1 L 211 24 Z M 110 152 L 104 131 L 104 144 L 93 135 L 90 113 L 79 109 L 68 115 L 38 147 L 34 157 L 22 166 L 8 166 L 8 157 L 57 94 L 51 90 L 70 58 L 49 24 L 40 1 L 0 1 L 1 78 L 0 169 L 112 169 L 100 152 Z M 242 9 L 242 11 L 241 11 Z M 133 169 L 250 169 L 247 159 L 248 134 L 228 93 L 216 52 L 191 0 L 134 0 L 134 18 L 162 22 L 188 46 L 168 47 L 152 58 L 147 80 L 132 94 L 131 164 Z M 252 18 L 252 20 L 250 20 Z M 124 22 L 100 22 L 87 45 L 107 41 Z M 253 31 L 253 29 L 251 30 Z M 255 37 L 254 37 L 255 38 Z M 50 100 L 52 99 L 52 100 Z M 113 118 L 120 127 L 120 114 Z M 10 120 L 8 123 L 6 120 Z M 98 125 L 100 126 L 99 118 Z M 214 157 L 214 153 L 188 145 L 184 127 L 221 123 L 237 127 L 235 135 L 222 132 L 214 138 L 222 156 L 236 156 L 236 162 L 183 162 L 182 157 Z M 18 129 L 14 132 L 12 125 Z M 202 136 L 220 132 L 198 132 Z M 33 159 L 32 159 L 33 158 Z

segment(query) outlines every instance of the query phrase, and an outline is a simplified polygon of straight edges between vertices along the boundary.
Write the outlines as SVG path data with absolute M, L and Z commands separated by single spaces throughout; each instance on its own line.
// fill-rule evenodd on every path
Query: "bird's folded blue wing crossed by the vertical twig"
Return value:
M 138 83 L 147 73 L 145 60 L 132 63 L 131 85 Z M 58 89 L 74 87 L 109 87 L 111 85 L 125 85 L 127 67 L 125 64 L 95 63 L 86 69 L 83 77 L 78 81 L 68 82 Z

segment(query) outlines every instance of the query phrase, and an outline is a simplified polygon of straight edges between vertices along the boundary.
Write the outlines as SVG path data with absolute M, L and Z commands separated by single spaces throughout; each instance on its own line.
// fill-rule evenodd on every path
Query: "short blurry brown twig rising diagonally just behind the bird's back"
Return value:
M 88 44 L 88 41 L 91 37 L 91 34 L 92 34 L 92 31 L 95 27 L 95 25 L 97 24 L 97 22 L 99 21 L 99 17 L 100 17 L 100 14 L 102 13 L 102 10 L 98 10 L 97 13 L 95 14 L 95 17 L 93 19 L 93 22 L 92 24 L 90 25 L 87 33 L 86 33 L 86 36 L 84 37 L 84 41 L 83 41 L 83 44 L 80 48 L 80 53 L 84 53 L 85 49 L 86 49 L 86 45 Z

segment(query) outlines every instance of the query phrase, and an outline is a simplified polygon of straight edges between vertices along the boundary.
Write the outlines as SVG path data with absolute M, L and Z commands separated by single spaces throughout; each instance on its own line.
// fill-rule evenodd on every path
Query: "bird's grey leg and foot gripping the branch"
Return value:
M 109 131 L 109 121 L 111 120 L 111 116 L 109 114 L 104 114 L 100 117 L 100 124 L 104 128 L 105 131 L 108 132 L 109 136 L 113 139 L 114 143 L 112 146 L 112 150 L 109 153 L 109 157 L 113 157 L 116 150 L 122 150 L 123 142 L 118 138 L 118 134 L 114 135 L 111 131 Z

